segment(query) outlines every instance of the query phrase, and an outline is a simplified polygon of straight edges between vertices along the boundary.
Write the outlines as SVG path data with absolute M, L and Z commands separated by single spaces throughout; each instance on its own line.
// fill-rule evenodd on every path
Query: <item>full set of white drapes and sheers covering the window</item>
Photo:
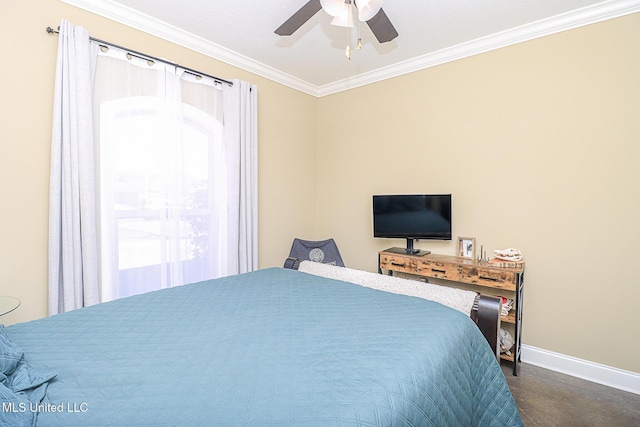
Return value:
M 58 79 L 51 314 L 258 268 L 255 86 L 64 21 Z

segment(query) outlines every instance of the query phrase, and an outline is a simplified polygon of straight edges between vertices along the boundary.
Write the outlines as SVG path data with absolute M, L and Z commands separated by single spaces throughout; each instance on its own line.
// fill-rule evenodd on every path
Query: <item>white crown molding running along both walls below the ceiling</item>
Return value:
M 315 97 L 332 95 L 539 37 L 640 12 L 640 0 L 604 1 L 582 9 L 556 15 L 531 24 L 515 27 L 500 33 L 412 58 L 392 66 L 379 68 L 356 77 L 317 86 L 111 0 L 60 1 Z

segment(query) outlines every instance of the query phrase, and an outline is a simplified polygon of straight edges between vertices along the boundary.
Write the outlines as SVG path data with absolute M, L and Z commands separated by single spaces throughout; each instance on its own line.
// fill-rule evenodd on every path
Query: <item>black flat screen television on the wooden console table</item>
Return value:
M 373 196 L 373 237 L 406 239 L 403 253 L 426 254 L 414 240 L 451 240 L 451 194 Z

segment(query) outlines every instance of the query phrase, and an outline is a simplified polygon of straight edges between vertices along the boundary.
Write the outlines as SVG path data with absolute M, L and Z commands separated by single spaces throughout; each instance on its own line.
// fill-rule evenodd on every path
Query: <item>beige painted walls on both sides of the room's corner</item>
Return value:
M 332 236 L 374 271 L 402 242 L 373 239 L 371 195 L 451 192 L 454 236 L 525 253 L 525 344 L 640 372 L 640 15 L 321 99 L 55 0 L 3 1 L 0 16 L 0 295 L 22 300 L 2 322 L 46 315 L 57 38 L 44 28 L 65 18 L 258 85 L 261 267 L 294 236 Z

